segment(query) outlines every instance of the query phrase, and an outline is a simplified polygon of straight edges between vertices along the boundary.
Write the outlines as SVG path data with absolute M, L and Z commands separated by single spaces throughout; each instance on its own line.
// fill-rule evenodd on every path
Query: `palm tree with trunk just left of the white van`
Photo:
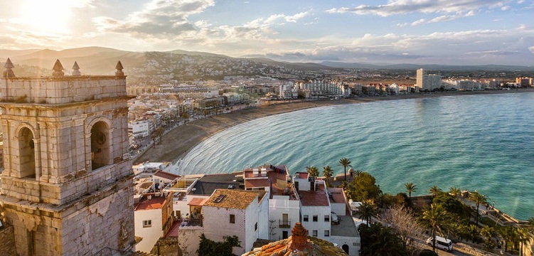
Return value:
M 432 232 L 432 249 L 436 251 L 436 235 L 442 234 L 449 228 L 449 213 L 439 204 L 432 203 L 430 208 L 423 212 L 420 223 L 424 228 L 429 228 Z

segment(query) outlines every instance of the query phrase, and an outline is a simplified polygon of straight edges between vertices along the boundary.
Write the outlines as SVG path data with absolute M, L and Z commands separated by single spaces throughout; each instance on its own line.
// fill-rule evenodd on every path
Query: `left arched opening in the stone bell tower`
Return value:
M 18 164 L 21 178 L 36 177 L 36 150 L 33 144 L 33 133 L 27 127 L 18 132 Z

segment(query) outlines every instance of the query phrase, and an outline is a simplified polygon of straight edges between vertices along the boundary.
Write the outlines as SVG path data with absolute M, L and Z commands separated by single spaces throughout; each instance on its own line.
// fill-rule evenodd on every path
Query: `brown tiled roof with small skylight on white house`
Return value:
M 265 196 L 265 191 L 241 191 L 233 189 L 218 189 L 213 192 L 208 201 L 204 203 L 204 206 L 233 208 L 233 209 L 245 209 L 250 206 L 250 203 L 258 198 L 258 202 Z M 214 202 L 215 198 L 224 196 L 218 203 Z

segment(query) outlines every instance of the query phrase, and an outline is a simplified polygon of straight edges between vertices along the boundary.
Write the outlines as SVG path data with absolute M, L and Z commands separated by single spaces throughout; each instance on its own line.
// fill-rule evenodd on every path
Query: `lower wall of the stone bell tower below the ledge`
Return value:
M 132 177 L 125 177 L 67 206 L 2 199 L 19 255 L 31 255 L 32 243 L 38 255 L 102 255 L 133 245 L 133 195 Z

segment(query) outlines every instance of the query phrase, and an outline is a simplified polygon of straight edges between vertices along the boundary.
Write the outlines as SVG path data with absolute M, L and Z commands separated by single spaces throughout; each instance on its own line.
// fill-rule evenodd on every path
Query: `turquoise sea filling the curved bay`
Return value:
M 375 176 L 386 193 L 437 185 L 476 190 L 519 219 L 534 217 L 534 92 L 335 105 L 255 119 L 175 160 L 178 174 L 286 164 Z

